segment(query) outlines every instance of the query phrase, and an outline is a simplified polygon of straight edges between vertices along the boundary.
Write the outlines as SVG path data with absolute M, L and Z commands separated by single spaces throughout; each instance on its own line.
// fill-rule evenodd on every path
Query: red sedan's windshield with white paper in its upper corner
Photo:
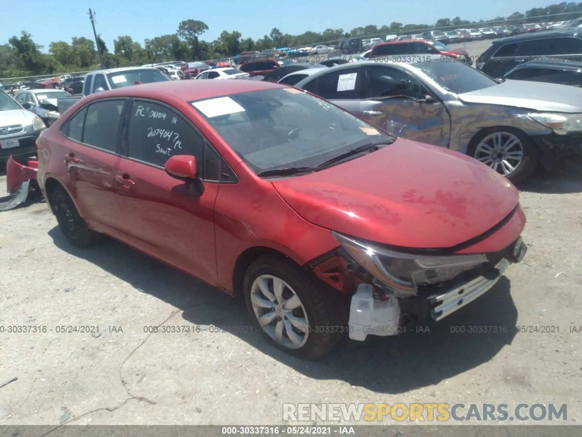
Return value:
M 325 100 L 294 88 L 190 102 L 255 172 L 317 167 L 393 138 Z

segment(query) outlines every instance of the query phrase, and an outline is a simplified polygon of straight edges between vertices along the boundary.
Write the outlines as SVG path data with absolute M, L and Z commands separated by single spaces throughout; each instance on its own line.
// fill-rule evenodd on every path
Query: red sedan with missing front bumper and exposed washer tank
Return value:
M 91 94 L 37 146 L 71 244 L 106 234 L 241 295 L 256 329 L 304 358 L 415 313 L 440 320 L 526 251 L 518 192 L 487 165 L 276 83 Z

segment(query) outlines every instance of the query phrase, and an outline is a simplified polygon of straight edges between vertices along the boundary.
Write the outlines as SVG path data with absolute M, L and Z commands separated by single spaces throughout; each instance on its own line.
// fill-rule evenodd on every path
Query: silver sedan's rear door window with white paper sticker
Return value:
M 303 86 L 303 89 L 323 98 L 354 99 L 361 97 L 361 68 L 346 68 L 318 76 Z

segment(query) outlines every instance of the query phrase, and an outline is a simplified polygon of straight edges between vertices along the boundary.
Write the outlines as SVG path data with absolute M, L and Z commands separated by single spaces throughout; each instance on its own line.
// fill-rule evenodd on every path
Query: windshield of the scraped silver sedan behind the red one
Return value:
M 411 65 L 455 94 L 470 93 L 498 84 L 491 77 L 455 59 L 450 62 L 414 62 Z

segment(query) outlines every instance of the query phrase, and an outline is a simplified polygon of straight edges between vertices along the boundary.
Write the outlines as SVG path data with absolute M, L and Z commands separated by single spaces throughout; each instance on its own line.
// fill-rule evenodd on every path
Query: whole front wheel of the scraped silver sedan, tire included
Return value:
M 529 177 L 538 161 L 531 139 L 524 132 L 508 127 L 481 131 L 471 140 L 467 154 L 514 184 Z

